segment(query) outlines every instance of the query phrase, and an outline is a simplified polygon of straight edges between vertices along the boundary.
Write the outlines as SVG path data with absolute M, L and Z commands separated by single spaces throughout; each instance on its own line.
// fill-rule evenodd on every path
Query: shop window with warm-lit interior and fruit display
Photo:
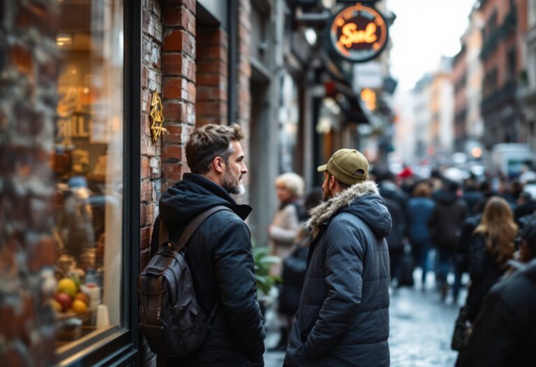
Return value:
M 63 0 L 55 178 L 57 355 L 121 323 L 123 1 Z

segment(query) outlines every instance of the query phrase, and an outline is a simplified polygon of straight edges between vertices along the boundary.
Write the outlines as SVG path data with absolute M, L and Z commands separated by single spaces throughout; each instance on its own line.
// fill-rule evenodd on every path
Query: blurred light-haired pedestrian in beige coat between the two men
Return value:
M 304 180 L 293 172 L 283 173 L 276 178 L 276 194 L 279 208 L 268 227 L 272 253 L 281 259 L 290 254 L 300 222 L 304 219 L 301 196 Z M 274 264 L 271 275 L 281 276 L 281 262 Z

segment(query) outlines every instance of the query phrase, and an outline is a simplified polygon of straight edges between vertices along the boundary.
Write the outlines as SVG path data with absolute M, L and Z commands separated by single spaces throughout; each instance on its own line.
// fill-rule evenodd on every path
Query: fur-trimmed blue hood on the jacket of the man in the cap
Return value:
M 337 213 L 351 213 L 365 222 L 380 238 L 391 232 L 391 215 L 373 181 L 365 181 L 348 187 L 327 201 L 311 209 L 311 219 L 306 225 L 311 228 L 313 236 L 320 231 L 320 226 L 329 222 Z

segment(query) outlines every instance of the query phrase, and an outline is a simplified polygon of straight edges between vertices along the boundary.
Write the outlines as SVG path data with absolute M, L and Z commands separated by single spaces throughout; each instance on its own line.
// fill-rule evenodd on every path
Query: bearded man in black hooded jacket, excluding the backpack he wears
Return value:
M 152 253 L 162 245 L 161 220 L 173 242 L 184 236 L 196 217 L 216 210 L 196 224 L 198 229 L 181 244 L 185 250 L 180 251 L 209 331 L 191 352 L 166 357 L 166 366 L 264 365 L 265 331 L 257 302 L 251 234 L 244 222 L 251 207 L 237 204 L 230 196 L 244 192 L 241 179 L 248 170 L 240 145 L 243 139 L 244 133 L 237 124 L 208 124 L 194 129 L 186 143 L 186 161 L 192 173 L 185 173 L 183 180 L 160 199 L 160 215 L 151 238 Z M 185 279 L 187 282 L 188 277 Z M 183 288 L 186 289 L 184 285 Z M 191 315 L 184 315 L 185 309 L 179 308 L 178 317 L 197 316 L 195 309 Z M 147 337 L 147 332 L 144 334 Z M 181 338 L 187 344 L 186 337 Z

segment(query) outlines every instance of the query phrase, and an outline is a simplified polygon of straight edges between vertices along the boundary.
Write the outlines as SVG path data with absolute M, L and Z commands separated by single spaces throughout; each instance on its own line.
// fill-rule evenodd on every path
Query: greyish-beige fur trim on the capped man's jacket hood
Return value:
M 339 210 L 350 206 L 352 201 L 366 195 L 379 195 L 375 182 L 370 180 L 359 182 L 311 209 L 309 211 L 311 219 L 307 221 L 306 226 L 311 229 L 313 237 L 318 235 L 322 224 L 329 222 Z

